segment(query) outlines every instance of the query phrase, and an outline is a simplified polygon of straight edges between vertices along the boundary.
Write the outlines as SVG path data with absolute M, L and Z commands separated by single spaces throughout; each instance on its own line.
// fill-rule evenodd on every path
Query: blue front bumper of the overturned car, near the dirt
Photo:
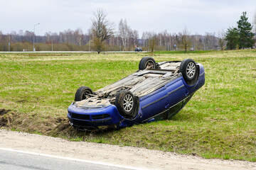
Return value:
M 77 108 L 73 103 L 68 107 L 70 125 L 75 128 L 97 128 L 98 126 L 117 125 L 124 120 L 114 105 L 105 108 Z

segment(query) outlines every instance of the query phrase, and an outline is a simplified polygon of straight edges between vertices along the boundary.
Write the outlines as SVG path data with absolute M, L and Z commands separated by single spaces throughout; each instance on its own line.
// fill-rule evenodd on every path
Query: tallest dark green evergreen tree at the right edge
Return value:
M 238 33 L 239 33 L 239 48 L 252 47 L 254 45 L 252 25 L 247 21 L 246 12 L 242 12 L 240 20 L 238 21 Z

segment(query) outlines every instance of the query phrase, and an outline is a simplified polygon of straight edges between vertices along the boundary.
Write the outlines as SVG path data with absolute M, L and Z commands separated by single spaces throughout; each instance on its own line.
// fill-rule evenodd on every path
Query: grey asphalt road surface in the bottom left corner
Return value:
M 78 162 L 68 159 L 57 159 L 41 155 L 26 154 L 21 152 L 11 152 L 0 149 L 0 169 L 1 170 L 70 170 L 70 169 L 87 169 L 87 170 L 115 170 L 123 169 L 121 167 L 106 166 L 102 164 L 92 164 L 87 162 Z M 124 169 L 123 169 L 124 170 Z

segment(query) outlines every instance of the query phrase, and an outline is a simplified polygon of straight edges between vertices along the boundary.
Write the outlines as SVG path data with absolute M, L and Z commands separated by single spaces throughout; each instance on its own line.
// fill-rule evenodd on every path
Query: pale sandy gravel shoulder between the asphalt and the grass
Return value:
M 8 130 L 0 130 L 1 148 L 84 159 L 90 162 L 132 166 L 136 169 L 256 169 L 255 162 L 203 159 L 137 147 L 70 142 L 57 137 Z

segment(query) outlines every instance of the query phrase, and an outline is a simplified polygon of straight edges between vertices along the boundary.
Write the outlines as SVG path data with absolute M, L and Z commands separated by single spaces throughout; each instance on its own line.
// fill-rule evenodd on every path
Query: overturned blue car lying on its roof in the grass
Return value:
M 203 65 L 191 59 L 155 62 L 143 57 L 139 70 L 97 91 L 81 86 L 68 107 L 70 125 L 79 130 L 170 119 L 205 84 Z

